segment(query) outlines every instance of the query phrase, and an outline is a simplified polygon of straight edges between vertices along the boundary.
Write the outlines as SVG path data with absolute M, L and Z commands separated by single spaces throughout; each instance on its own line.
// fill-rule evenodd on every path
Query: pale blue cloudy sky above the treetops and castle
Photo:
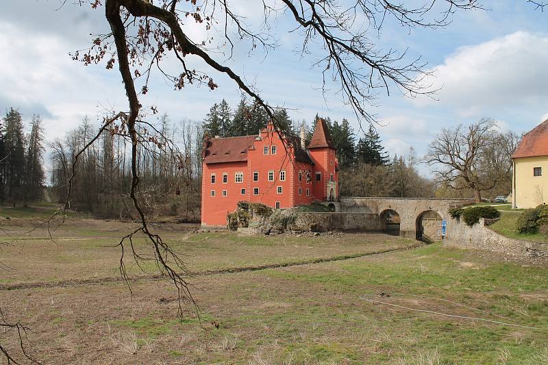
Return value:
M 417 1 L 413 0 L 416 3 Z M 233 0 L 231 6 L 246 21 L 260 27 L 256 1 Z M 434 97 L 410 98 L 396 88 L 379 92 L 369 108 L 377 116 L 377 131 L 390 155 L 405 155 L 410 147 L 423 155 L 443 128 L 494 118 L 501 131 L 522 133 L 548 118 L 548 12 L 525 0 L 484 0 L 488 10 L 456 12 L 441 29 L 408 29 L 388 21 L 381 34 L 370 34 L 379 49 L 406 51 L 420 57 L 432 72 L 425 84 L 438 90 Z M 104 9 L 73 5 L 69 0 L 3 0 L 0 13 L 0 111 L 18 108 L 25 121 L 40 114 L 47 139 L 62 137 L 87 115 L 101 118 L 108 110 L 127 110 L 127 99 L 116 67 L 84 66 L 69 52 L 86 49 L 90 34 L 108 31 Z M 203 27 L 185 23 L 195 42 L 214 37 L 212 56 L 231 66 L 253 84 L 270 105 L 288 108 L 295 121 L 310 123 L 314 115 L 340 121 L 347 118 L 358 131 L 358 120 L 349 105 L 327 83 L 321 92 L 321 69 L 312 63 L 320 53 L 299 53 L 301 35 L 288 14 L 272 19 L 271 34 L 277 47 L 249 54 L 249 42 L 236 42 L 229 58 L 223 38 Z M 257 28 L 258 29 L 258 28 Z M 208 40 L 209 42 L 209 40 Z M 198 60 L 192 67 L 203 68 Z M 169 60 L 166 68 L 177 72 Z M 240 91 L 224 75 L 209 72 L 219 88 L 186 87 L 175 91 L 158 71 L 151 76 L 145 105 L 155 105 L 172 121 L 202 121 L 213 103 L 222 99 L 236 107 Z M 428 174 L 428 168 L 421 171 Z

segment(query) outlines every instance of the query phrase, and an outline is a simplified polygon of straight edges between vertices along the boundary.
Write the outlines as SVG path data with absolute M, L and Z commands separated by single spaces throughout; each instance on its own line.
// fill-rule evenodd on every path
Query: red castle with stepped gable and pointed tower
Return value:
M 319 119 L 312 140 L 285 136 L 272 123 L 258 135 L 206 136 L 203 144 L 201 225 L 219 227 L 238 201 L 273 208 L 338 197 L 338 162 L 327 125 Z

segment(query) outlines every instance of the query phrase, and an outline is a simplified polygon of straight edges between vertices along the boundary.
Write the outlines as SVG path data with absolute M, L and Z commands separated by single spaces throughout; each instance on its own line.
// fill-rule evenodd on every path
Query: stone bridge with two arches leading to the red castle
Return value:
M 377 214 L 379 226 L 383 230 L 391 230 L 394 227 L 395 229 L 399 228 L 400 236 L 414 239 L 422 239 L 425 230 L 428 230 L 428 226 L 440 229 L 441 221 L 449 222 L 448 212 L 452 207 L 468 203 L 473 203 L 473 200 L 340 197 L 338 201 L 324 202 L 334 212 Z M 430 232 L 432 232 L 432 229 Z

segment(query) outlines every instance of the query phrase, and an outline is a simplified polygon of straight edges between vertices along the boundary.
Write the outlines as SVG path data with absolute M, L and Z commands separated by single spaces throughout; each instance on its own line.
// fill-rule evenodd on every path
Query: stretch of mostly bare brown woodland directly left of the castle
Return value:
M 197 123 L 173 123 L 167 114 L 138 128 L 138 199 L 146 214 L 199 216 L 202 131 Z M 100 217 L 136 217 L 129 201 L 131 142 L 122 127 L 105 129 L 77 157 L 99 126 L 85 117 L 64 138 L 50 142 L 51 186 L 60 203 Z M 71 179 L 71 176 L 72 179 Z

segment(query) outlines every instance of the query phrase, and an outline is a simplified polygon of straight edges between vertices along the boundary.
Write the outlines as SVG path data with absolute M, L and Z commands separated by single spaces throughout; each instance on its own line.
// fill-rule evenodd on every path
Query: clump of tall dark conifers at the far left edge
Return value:
M 42 119 L 32 116 L 25 133 L 21 112 L 10 108 L 0 123 L 0 202 L 27 205 L 43 198 Z

